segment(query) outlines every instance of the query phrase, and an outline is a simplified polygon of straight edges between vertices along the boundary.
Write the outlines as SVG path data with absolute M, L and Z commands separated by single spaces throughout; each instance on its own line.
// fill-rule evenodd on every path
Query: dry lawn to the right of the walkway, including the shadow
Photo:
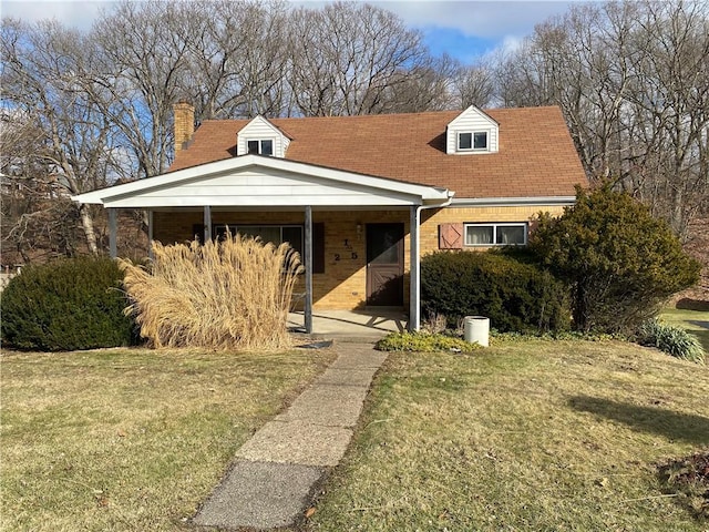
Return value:
M 616 341 L 390 354 L 317 531 L 707 530 L 657 464 L 709 446 L 709 371 Z

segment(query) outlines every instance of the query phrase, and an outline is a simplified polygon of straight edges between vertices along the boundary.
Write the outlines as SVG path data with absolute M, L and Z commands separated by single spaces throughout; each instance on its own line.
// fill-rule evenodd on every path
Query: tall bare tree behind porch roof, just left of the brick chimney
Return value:
M 171 162 L 172 105 L 184 95 L 193 41 L 184 7 L 124 0 L 92 31 L 102 62 L 94 98 L 133 152 L 134 177 L 161 174 Z

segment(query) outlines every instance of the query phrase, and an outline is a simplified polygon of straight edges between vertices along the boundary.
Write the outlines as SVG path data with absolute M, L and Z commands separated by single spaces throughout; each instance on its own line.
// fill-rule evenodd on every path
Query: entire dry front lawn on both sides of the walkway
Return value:
M 1 530 L 193 530 L 234 453 L 335 357 L 1 358 Z M 696 531 L 657 464 L 709 447 L 709 369 L 616 341 L 391 354 L 310 531 Z M 309 512 L 311 513 L 311 512 Z

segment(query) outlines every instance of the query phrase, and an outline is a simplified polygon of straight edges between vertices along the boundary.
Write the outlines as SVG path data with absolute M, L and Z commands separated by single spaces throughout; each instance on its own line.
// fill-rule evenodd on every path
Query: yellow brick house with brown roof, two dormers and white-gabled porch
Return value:
M 558 108 L 205 121 L 175 105 L 163 175 L 74 196 L 146 209 L 163 244 L 226 227 L 301 252 L 314 309 L 395 307 L 420 324 L 420 257 L 525 245 L 587 180 Z

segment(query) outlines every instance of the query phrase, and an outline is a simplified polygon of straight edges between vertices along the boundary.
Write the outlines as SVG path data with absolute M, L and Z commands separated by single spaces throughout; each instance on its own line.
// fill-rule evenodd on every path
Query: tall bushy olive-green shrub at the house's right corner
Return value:
M 574 328 L 631 334 L 672 294 L 699 279 L 669 226 L 605 185 L 576 191 L 559 218 L 540 216 L 531 249 L 572 289 Z

